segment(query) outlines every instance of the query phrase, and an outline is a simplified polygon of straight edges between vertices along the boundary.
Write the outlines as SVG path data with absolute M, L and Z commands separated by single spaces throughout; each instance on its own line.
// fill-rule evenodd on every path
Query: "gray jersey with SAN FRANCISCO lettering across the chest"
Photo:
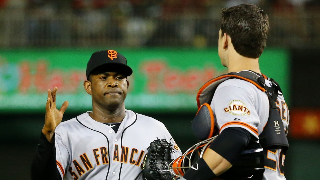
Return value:
M 115 133 L 86 112 L 56 128 L 57 167 L 63 179 L 141 180 L 141 163 L 156 138 L 172 143 L 172 159 L 181 155 L 160 121 L 126 110 Z

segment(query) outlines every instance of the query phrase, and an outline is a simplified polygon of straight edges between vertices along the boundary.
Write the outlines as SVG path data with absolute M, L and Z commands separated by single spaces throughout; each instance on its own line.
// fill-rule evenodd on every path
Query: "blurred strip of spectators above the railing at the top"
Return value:
M 257 4 L 272 12 L 320 10 L 319 0 L 0 0 L 0 10 L 99 11 L 111 16 L 159 17 L 216 15 L 217 9 L 242 3 Z

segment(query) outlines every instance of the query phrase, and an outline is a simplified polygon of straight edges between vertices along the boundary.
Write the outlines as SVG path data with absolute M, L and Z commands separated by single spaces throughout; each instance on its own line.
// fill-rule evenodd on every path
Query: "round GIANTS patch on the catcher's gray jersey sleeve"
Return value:
M 246 114 L 250 116 L 250 110 L 247 108 L 244 102 L 236 99 L 230 101 L 228 107 L 224 108 L 223 110 L 226 113 L 230 113 L 236 116 L 244 116 Z

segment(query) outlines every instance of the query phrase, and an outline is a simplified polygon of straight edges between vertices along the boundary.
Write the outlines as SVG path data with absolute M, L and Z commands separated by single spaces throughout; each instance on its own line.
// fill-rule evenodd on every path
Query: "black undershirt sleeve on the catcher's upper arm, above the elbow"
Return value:
M 246 129 L 230 127 L 224 129 L 209 148 L 233 165 L 250 140 L 251 134 Z

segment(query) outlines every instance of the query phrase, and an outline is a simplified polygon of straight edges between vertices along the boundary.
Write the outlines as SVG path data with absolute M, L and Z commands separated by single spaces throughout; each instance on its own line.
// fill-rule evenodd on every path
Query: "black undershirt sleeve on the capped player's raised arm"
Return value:
M 42 132 L 30 170 L 32 180 L 61 180 L 56 164 L 55 143 L 50 143 Z

